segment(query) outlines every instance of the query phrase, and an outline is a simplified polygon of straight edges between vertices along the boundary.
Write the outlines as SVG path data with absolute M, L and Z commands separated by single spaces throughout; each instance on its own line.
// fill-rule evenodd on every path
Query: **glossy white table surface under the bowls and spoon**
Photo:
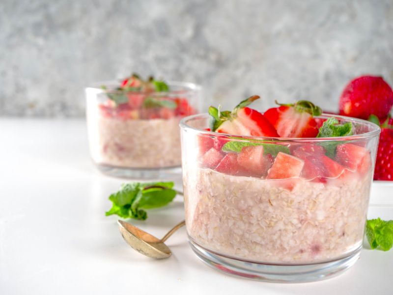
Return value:
M 182 228 L 173 255 L 152 260 L 105 216 L 125 180 L 90 162 L 84 120 L 0 119 L 0 294 L 393 294 L 393 250 L 364 249 L 329 280 L 276 284 L 231 277 L 200 262 Z M 179 179 L 177 179 L 179 184 Z M 180 198 L 133 221 L 163 236 L 183 219 Z M 369 217 L 393 219 L 393 185 L 373 185 Z

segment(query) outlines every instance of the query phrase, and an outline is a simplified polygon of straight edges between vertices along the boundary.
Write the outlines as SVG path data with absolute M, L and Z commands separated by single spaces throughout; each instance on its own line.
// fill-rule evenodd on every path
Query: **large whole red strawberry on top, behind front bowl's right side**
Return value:
M 340 115 L 368 119 L 371 114 L 386 119 L 393 105 L 393 90 L 375 76 L 355 78 L 344 88 L 339 100 Z

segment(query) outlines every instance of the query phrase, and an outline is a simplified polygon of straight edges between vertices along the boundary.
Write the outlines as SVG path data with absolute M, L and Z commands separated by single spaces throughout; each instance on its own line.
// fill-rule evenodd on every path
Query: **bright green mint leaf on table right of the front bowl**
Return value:
M 393 246 L 393 220 L 384 221 L 381 218 L 367 220 L 366 236 L 371 249 L 380 248 L 388 251 Z

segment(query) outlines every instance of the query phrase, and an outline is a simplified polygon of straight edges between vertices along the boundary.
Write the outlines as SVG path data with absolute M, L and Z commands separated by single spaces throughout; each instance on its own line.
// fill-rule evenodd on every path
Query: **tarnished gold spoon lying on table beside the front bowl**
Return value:
M 175 225 L 162 239 L 158 239 L 128 222 L 118 220 L 117 223 L 119 224 L 119 231 L 127 244 L 139 253 L 155 259 L 168 258 L 172 254 L 164 242 L 169 236 L 186 224 L 183 220 Z

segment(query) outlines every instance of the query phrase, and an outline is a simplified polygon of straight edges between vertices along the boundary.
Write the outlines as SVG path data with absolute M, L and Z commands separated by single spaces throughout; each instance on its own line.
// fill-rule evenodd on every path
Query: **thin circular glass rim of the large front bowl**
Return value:
M 228 134 L 228 133 L 221 133 L 221 132 L 213 132 L 213 131 L 206 131 L 202 129 L 198 129 L 195 127 L 192 127 L 187 124 L 188 121 L 200 118 L 200 119 L 207 119 L 209 118 L 209 114 L 203 113 L 203 114 L 197 114 L 197 115 L 191 115 L 185 118 L 182 118 L 180 120 L 180 128 L 185 129 L 187 131 L 192 131 L 197 134 L 206 134 L 206 135 L 214 135 L 214 136 L 225 136 L 227 138 L 233 138 L 234 140 L 241 141 L 242 139 L 245 140 L 251 140 L 251 139 L 256 139 L 256 140 L 266 140 L 266 141 L 296 141 L 296 142 L 321 142 L 321 141 L 328 141 L 328 140 L 335 140 L 339 139 L 340 141 L 345 141 L 345 140 L 356 140 L 356 139 L 365 139 L 365 138 L 372 138 L 374 136 L 377 136 L 381 132 L 381 128 L 364 119 L 358 119 L 358 118 L 351 118 L 351 117 L 346 117 L 346 116 L 339 116 L 339 115 L 334 115 L 334 114 L 325 114 L 323 113 L 321 116 L 315 116 L 315 118 L 337 118 L 341 119 L 344 121 L 349 121 L 352 123 L 358 123 L 362 124 L 364 126 L 368 126 L 370 131 L 362 133 L 362 134 L 354 134 L 354 135 L 349 135 L 349 136 L 339 136 L 339 137 L 265 137 L 265 136 L 244 136 L 244 135 L 235 135 L 235 134 Z

